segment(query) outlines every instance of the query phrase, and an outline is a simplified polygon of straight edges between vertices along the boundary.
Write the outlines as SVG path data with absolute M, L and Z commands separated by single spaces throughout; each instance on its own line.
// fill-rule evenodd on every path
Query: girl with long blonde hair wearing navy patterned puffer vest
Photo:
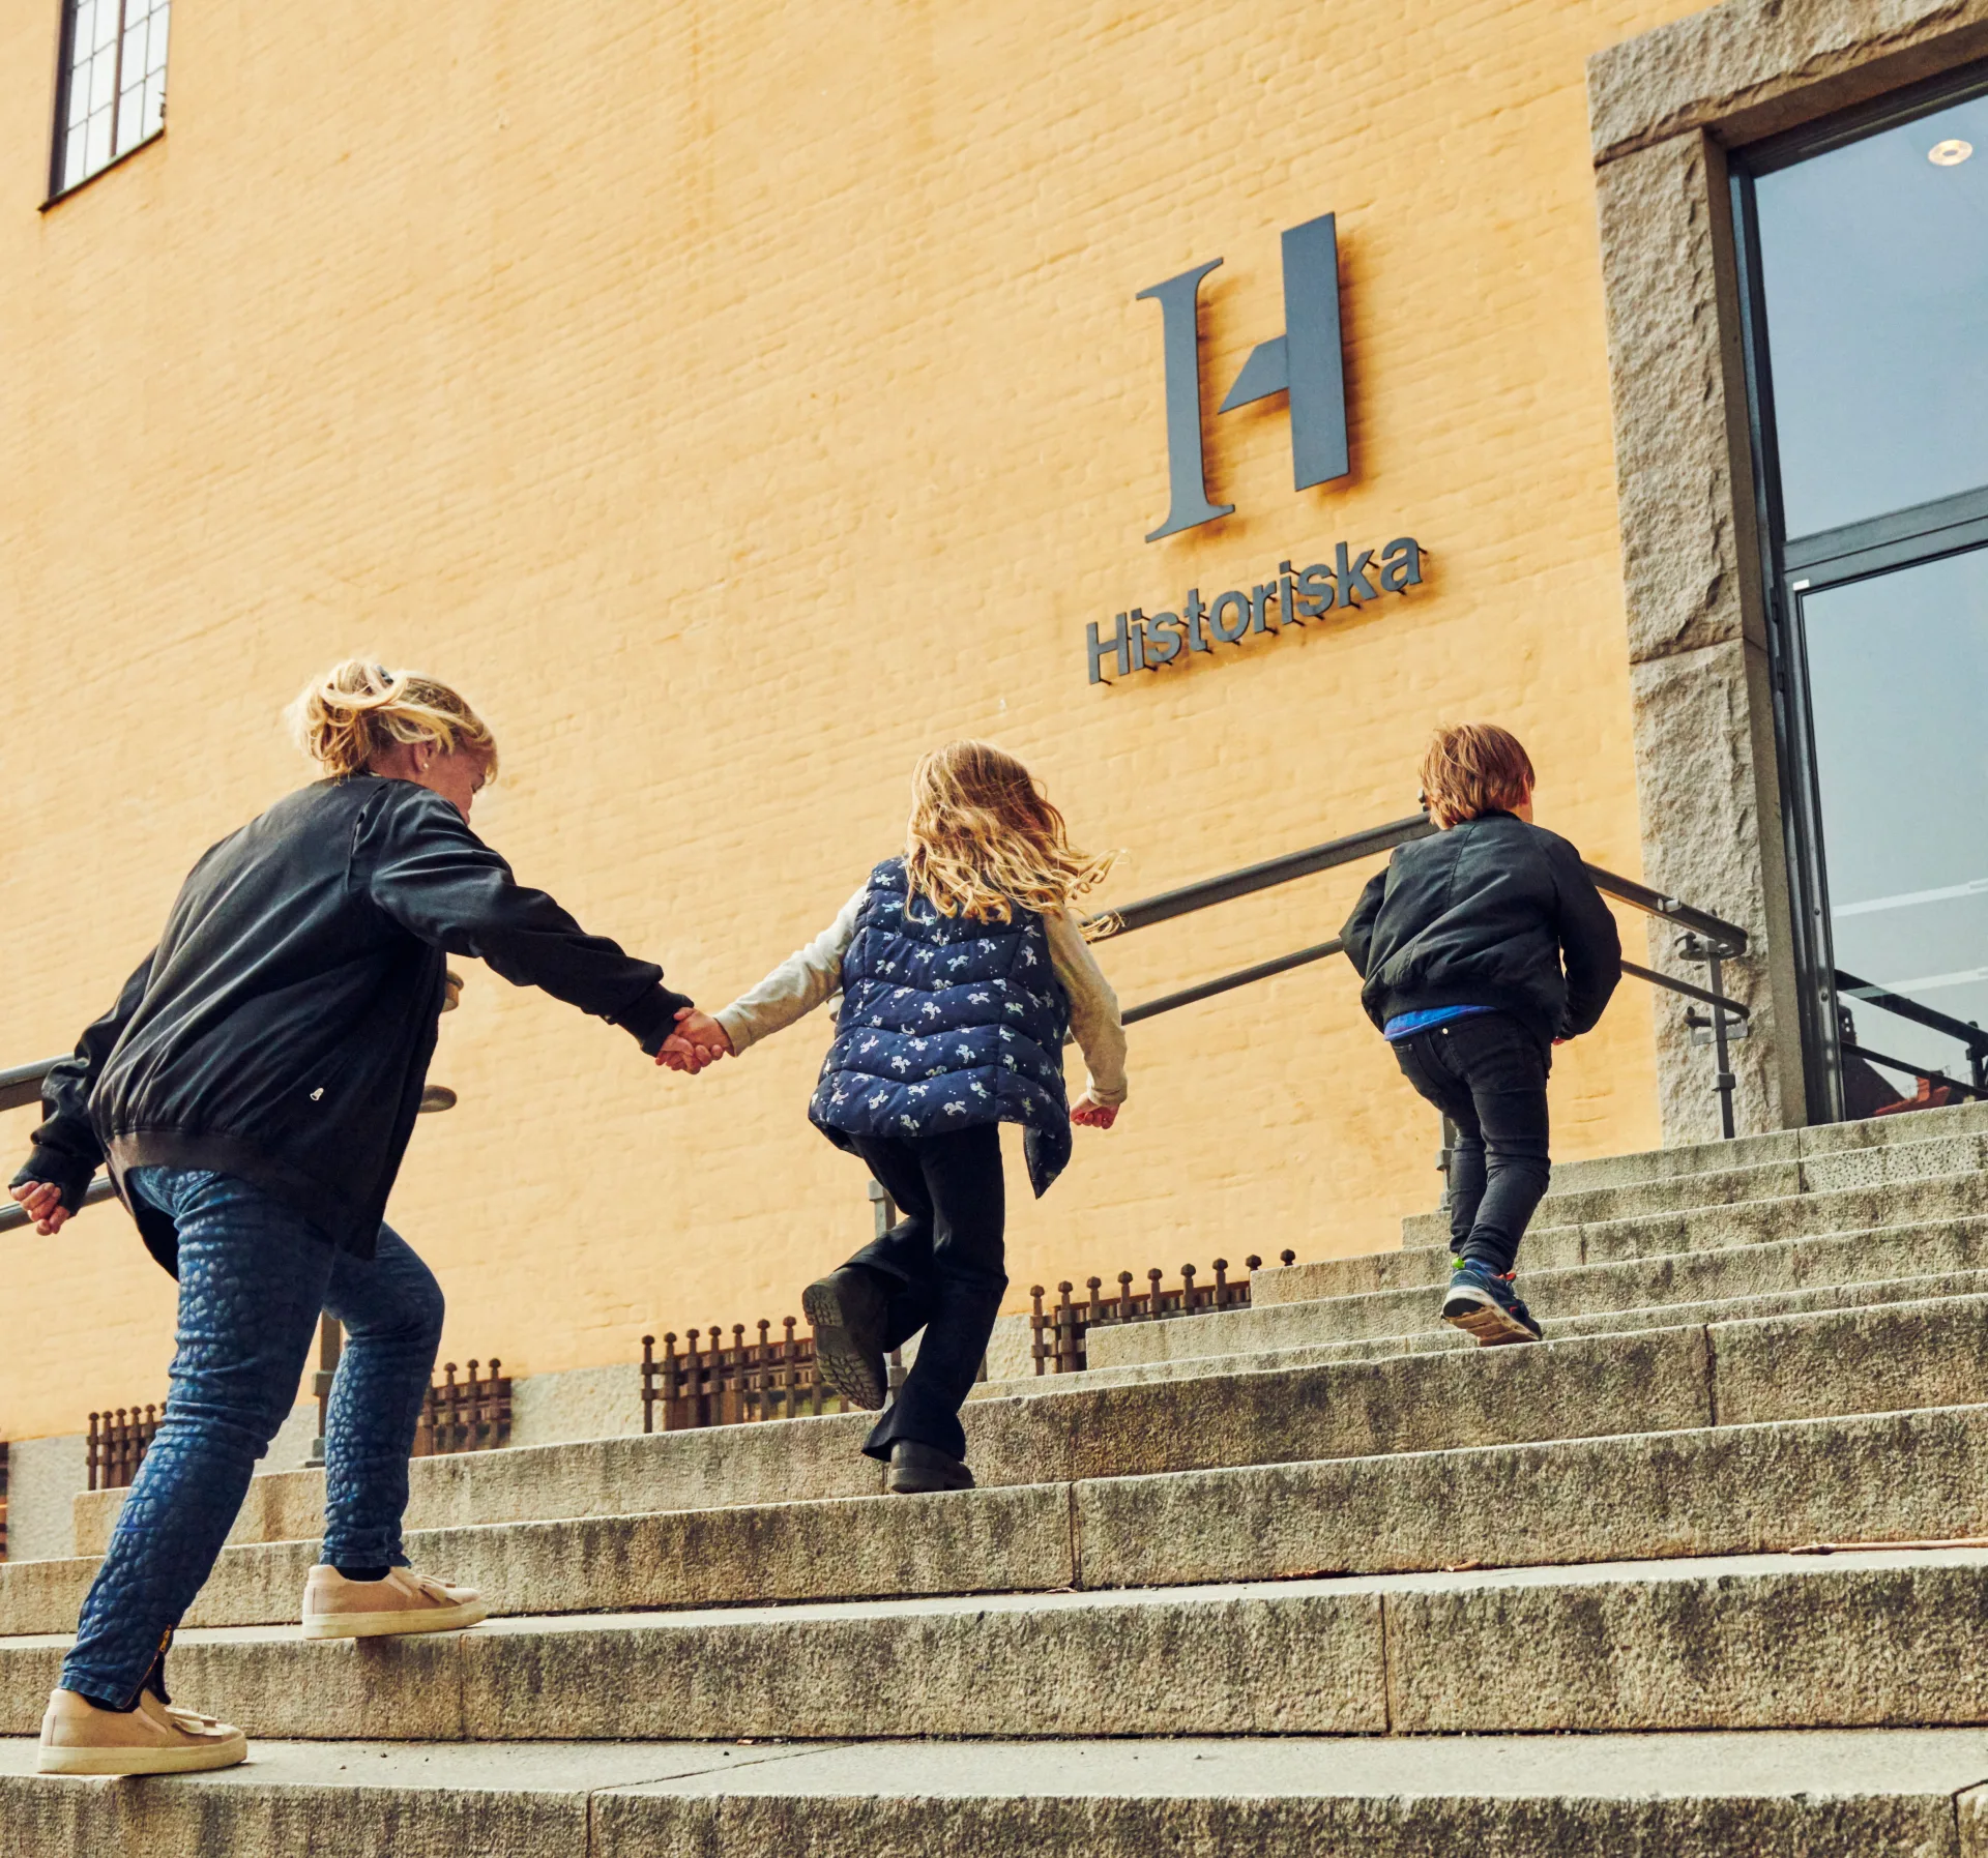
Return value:
M 912 769 L 905 851 L 807 948 L 662 1049 L 660 1063 L 698 1071 L 843 996 L 809 1119 L 903 1218 L 801 1306 L 823 1375 L 869 1411 L 885 1403 L 887 1351 L 924 1331 L 863 1445 L 889 1465 L 891 1490 L 974 1480 L 960 1405 L 1008 1288 L 1000 1125 L 1022 1127 L 1042 1194 L 1070 1159 L 1070 1125 L 1109 1129 L 1125 1101 L 1117 996 L 1074 908 L 1109 868 L 1072 847 L 1014 755 L 948 743 Z M 1076 1107 L 1070 1033 L 1089 1067 Z

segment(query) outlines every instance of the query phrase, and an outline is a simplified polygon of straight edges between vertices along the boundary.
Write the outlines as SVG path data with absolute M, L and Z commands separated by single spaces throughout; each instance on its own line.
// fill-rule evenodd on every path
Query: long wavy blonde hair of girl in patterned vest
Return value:
M 911 775 L 905 878 L 940 916 L 1010 922 L 1018 908 L 1054 914 L 1099 884 L 1117 852 L 1070 843 L 1014 755 L 986 741 L 948 741 Z

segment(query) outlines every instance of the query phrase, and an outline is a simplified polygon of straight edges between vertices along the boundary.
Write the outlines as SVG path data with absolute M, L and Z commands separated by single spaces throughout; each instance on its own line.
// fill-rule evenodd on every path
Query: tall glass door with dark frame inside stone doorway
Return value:
M 1988 1099 L 1988 72 L 1734 197 L 1809 1117 Z

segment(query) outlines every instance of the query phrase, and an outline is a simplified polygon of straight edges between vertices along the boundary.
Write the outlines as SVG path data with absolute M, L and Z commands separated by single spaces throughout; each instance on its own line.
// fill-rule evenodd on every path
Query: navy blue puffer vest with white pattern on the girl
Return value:
M 1064 1035 L 1070 1000 L 1040 916 L 940 916 L 905 896 L 905 860 L 871 872 L 843 956 L 843 1007 L 809 1117 L 853 1135 L 940 1135 L 1020 1123 L 1038 1194 L 1070 1161 Z

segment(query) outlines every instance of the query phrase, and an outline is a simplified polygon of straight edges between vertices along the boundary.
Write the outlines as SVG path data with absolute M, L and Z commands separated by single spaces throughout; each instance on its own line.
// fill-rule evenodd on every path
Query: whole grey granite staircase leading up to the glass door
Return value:
M 984 1389 L 982 1488 L 859 1415 L 415 1461 L 501 1618 L 304 1643 L 256 1478 L 173 1653 L 252 1737 L 40 1781 L 76 1560 L 0 1568 L 0 1826 L 42 1854 L 1988 1854 L 1988 1111 L 1563 1166 L 1545 1347 L 1443 1232 Z M 1815 1552 L 1833 1544 L 1829 1552 Z

